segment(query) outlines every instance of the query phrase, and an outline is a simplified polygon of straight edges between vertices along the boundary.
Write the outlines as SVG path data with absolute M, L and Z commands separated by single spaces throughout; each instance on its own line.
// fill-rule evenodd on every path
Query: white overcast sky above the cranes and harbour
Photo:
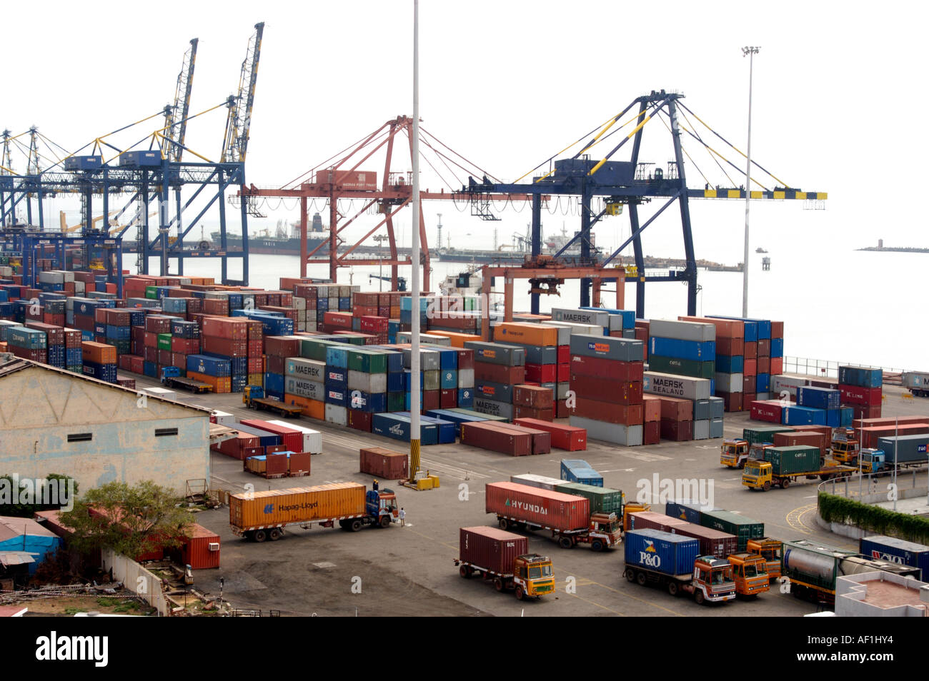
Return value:
M 760 45 L 752 158 L 787 184 L 828 191 L 830 199 L 825 212 L 805 212 L 800 202 L 752 203 L 752 250 L 797 242 L 851 249 L 877 238 L 929 246 L 917 208 L 926 179 L 917 127 L 924 96 L 913 86 L 924 61 L 922 4 L 420 5 L 423 125 L 499 177 L 515 179 L 636 96 L 661 88 L 683 92 L 690 109 L 744 150 L 749 64 L 740 47 Z M 18 65 L 6 71 L 0 126 L 17 134 L 35 124 L 74 149 L 155 113 L 174 96 L 192 37 L 200 45 L 191 110 L 214 106 L 238 84 L 256 21 L 266 27 L 250 183 L 280 186 L 386 120 L 412 113 L 410 0 L 196 3 L 171 12 L 111 2 L 90 12 L 50 2 L 37 13 L 17 3 L 5 7 L 4 45 Z M 137 128 L 131 141 L 157 122 Z M 190 147 L 216 159 L 224 123 L 224 110 L 191 122 Z M 723 150 L 719 140 L 713 146 Z M 626 158 L 626 148 L 616 160 Z M 685 148 L 704 171 L 713 169 L 692 140 Z M 734 152 L 726 156 L 743 167 Z M 649 123 L 641 160 L 663 167 L 670 158 L 670 135 L 661 122 Z M 21 169 L 24 161 L 14 164 Z M 381 165 L 372 169 L 380 173 Z M 687 173 L 690 186 L 703 185 L 690 164 Z M 711 180 L 727 184 L 718 171 Z M 740 261 L 744 203 L 691 206 L 698 257 Z M 76 202 L 53 208 L 57 216 L 59 209 L 75 211 Z M 502 223 L 479 223 L 451 204 L 431 204 L 430 237 L 438 212 L 447 227 L 480 234 L 488 245 L 494 225 L 503 242 L 529 222 L 528 212 L 509 212 Z M 682 253 L 676 208 L 667 213 L 670 222 L 648 228 L 647 253 Z M 579 223 L 543 213 L 546 229 L 562 220 L 569 229 Z M 616 244 L 628 231 L 625 216 L 611 218 L 597 227 L 597 242 Z M 453 244 L 468 245 L 456 238 Z

